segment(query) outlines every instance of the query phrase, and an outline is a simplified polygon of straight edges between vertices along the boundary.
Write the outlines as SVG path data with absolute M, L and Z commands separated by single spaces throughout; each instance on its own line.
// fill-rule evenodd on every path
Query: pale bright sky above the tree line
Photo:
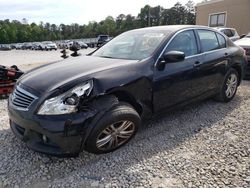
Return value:
M 28 23 L 49 22 L 55 24 L 87 24 L 101 21 L 107 16 L 116 18 L 119 14 L 137 16 L 145 5 L 161 5 L 164 8 L 183 5 L 188 0 L 0 0 L 0 20 L 22 20 Z M 193 0 L 199 3 L 202 0 Z

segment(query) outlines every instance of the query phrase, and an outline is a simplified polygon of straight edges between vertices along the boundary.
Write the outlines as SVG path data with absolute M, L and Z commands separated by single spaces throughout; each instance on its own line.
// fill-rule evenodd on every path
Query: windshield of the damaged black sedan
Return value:
M 126 32 L 111 40 L 92 55 L 115 59 L 142 60 L 153 54 L 166 35 L 166 33 L 157 31 Z

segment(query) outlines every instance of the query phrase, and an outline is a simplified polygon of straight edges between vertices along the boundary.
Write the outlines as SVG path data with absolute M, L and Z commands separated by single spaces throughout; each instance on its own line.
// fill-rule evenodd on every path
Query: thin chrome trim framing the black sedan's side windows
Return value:
M 210 29 L 210 28 L 197 28 L 197 27 L 193 27 L 193 28 L 187 28 L 187 29 L 182 29 L 182 30 L 179 30 L 177 31 L 173 36 L 172 38 L 168 41 L 168 43 L 166 44 L 166 46 L 164 47 L 164 49 L 162 50 L 162 52 L 160 53 L 159 57 L 157 58 L 156 62 L 154 63 L 154 67 L 156 67 L 157 63 L 159 62 L 160 58 L 162 57 L 162 55 L 164 54 L 165 50 L 167 49 L 167 47 L 169 46 L 169 44 L 173 41 L 173 39 L 180 33 L 184 32 L 184 31 L 189 31 L 189 30 L 208 30 L 208 31 L 213 31 L 215 33 L 218 33 L 220 35 L 222 35 L 226 41 L 226 47 L 225 48 L 220 48 L 220 49 L 216 49 L 216 50 L 212 50 L 212 51 L 208 51 L 208 52 L 202 52 L 202 53 L 199 53 L 199 54 L 195 54 L 195 55 L 191 55 L 191 56 L 187 56 L 185 57 L 185 59 L 190 59 L 192 57 L 196 57 L 196 56 L 200 56 L 200 55 L 205 55 L 205 54 L 209 54 L 209 53 L 212 53 L 212 52 L 216 52 L 216 51 L 220 51 L 220 50 L 225 50 L 228 45 L 227 45 L 227 39 L 225 38 L 225 36 L 223 35 L 223 33 L 221 34 L 220 32 L 218 32 L 217 30 L 214 30 L 214 29 Z M 195 36 L 196 37 L 196 36 Z

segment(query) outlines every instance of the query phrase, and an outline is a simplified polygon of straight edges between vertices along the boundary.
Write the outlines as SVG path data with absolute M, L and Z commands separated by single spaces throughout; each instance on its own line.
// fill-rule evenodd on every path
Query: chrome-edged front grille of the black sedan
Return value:
M 19 92 L 19 93 L 18 93 Z M 22 96 L 20 96 L 20 99 L 17 98 L 17 95 L 22 95 L 20 94 L 22 93 L 24 96 L 23 96 L 23 99 L 22 99 Z M 31 98 L 31 99 L 29 99 Z M 17 101 L 14 101 L 14 100 L 17 100 Z M 29 110 L 29 107 L 34 103 L 34 101 L 36 101 L 38 99 L 37 96 L 33 95 L 32 93 L 29 93 L 28 91 L 22 89 L 21 87 L 17 86 L 15 88 L 15 90 L 12 92 L 12 94 L 10 95 L 10 106 L 13 107 L 14 109 L 16 110 L 20 110 L 20 111 L 28 111 Z M 17 106 L 16 103 L 23 103 L 25 106 L 27 107 L 20 107 L 20 106 Z

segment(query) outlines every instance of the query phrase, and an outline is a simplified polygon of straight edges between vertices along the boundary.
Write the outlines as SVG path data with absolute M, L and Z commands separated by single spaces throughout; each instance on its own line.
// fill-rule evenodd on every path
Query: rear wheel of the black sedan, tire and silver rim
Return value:
M 230 82 L 230 80 L 232 82 Z M 238 86 L 239 86 L 239 80 L 240 80 L 239 73 L 234 68 L 229 69 L 229 71 L 227 72 L 227 74 L 225 76 L 223 84 L 222 84 L 222 86 L 220 88 L 220 92 L 217 94 L 215 99 L 217 101 L 225 102 L 225 103 L 230 102 L 231 100 L 233 100 L 233 98 L 234 98 L 234 96 L 235 96 L 235 94 L 237 92 Z M 228 90 L 229 89 L 229 86 L 228 86 L 229 83 L 231 83 L 230 87 L 232 87 L 231 92 L 228 92 L 229 91 Z

